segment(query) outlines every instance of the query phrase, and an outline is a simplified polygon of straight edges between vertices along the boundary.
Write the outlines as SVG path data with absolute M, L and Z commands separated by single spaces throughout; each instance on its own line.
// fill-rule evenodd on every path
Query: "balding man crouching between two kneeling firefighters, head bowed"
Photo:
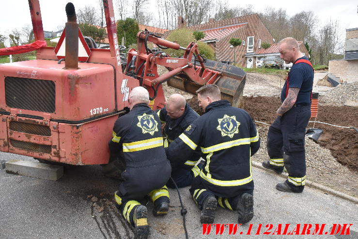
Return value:
M 186 103 L 185 97 L 179 94 L 172 94 L 168 97 L 166 106 L 157 112 L 161 123 L 164 126 L 164 147 L 173 142 L 184 130 L 197 118 L 199 114 Z M 191 185 L 191 181 L 199 175 L 200 169 L 196 166 L 200 159 L 201 151 L 197 149 L 190 157 L 171 164 L 171 178 L 179 188 Z M 171 180 L 167 186 L 174 188 Z

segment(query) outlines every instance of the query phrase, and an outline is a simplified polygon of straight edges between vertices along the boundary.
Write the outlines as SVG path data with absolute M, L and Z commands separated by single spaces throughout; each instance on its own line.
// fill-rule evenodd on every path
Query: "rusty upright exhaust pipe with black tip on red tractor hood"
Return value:
M 75 6 L 66 4 L 66 51 L 64 69 L 78 69 L 78 23 Z

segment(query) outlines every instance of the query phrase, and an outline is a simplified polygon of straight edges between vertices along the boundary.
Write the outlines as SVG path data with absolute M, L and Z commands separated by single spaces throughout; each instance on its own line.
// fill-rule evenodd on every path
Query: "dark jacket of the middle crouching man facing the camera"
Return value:
M 200 116 L 197 112 L 195 112 L 187 103 L 185 106 L 185 111 L 182 116 L 177 119 L 172 119 L 169 117 L 167 109 L 164 107 L 163 109 L 157 112 L 160 121 L 162 124 L 165 123 L 164 132 L 166 136 L 166 140 L 164 141 L 164 147 L 168 147 L 168 145 L 173 142 L 176 138 L 181 135 L 184 130 L 196 119 Z M 201 150 L 198 149 L 194 151 L 188 158 L 182 159 L 173 166 L 183 167 L 183 168 L 191 168 L 195 165 L 195 163 L 200 159 Z

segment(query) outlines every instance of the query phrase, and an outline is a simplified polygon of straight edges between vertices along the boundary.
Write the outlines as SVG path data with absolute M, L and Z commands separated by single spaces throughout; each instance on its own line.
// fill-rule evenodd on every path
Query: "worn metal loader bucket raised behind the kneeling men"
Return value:
M 219 72 L 215 80 L 206 84 L 216 84 L 220 88 L 221 99 L 229 100 L 234 107 L 242 108 L 246 72 L 239 67 L 211 60 L 206 60 L 204 65 L 205 68 Z M 168 85 L 193 95 L 196 95 L 195 92 L 202 87 L 201 84 L 190 80 L 184 73 L 171 77 Z

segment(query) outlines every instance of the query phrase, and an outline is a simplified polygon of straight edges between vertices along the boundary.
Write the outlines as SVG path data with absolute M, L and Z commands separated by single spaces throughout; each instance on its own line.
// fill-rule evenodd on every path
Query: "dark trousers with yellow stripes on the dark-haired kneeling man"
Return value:
M 197 176 L 194 177 L 193 182 L 191 184 L 191 188 L 189 189 L 190 194 L 193 196 L 194 202 L 199 206 L 200 210 L 202 210 L 202 205 L 205 201 L 205 198 L 209 195 L 213 195 L 218 200 L 218 205 L 222 208 L 229 209 L 229 210 L 236 210 L 237 202 L 240 196 L 247 192 L 253 195 L 252 190 L 244 190 L 241 191 L 240 194 L 235 195 L 234 197 L 226 198 L 226 197 L 219 197 L 215 195 L 214 192 L 205 189 L 204 185 L 201 183 L 201 177 Z M 222 190 L 225 191 L 225 187 L 222 187 Z

